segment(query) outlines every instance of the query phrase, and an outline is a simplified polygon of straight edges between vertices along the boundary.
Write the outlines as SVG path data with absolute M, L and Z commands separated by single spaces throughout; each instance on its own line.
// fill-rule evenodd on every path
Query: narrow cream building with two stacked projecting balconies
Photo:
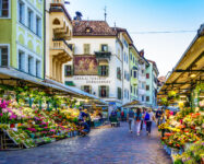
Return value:
M 63 0 L 46 0 L 46 79 L 63 82 L 63 65 L 73 59 L 72 20 Z

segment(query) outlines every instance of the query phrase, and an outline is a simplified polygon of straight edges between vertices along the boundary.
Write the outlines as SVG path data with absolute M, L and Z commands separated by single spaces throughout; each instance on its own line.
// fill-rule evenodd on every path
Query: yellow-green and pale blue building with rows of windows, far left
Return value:
M 0 0 L 0 66 L 44 79 L 44 0 Z

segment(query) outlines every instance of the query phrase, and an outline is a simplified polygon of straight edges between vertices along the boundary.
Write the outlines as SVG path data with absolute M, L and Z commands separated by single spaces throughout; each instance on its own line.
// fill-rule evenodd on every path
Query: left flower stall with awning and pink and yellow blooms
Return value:
M 7 72 L 7 71 L 5 71 Z M 77 99 L 104 104 L 82 91 L 21 77 L 0 74 L 0 150 L 33 148 L 79 132 Z M 11 77 L 12 75 L 12 77 Z

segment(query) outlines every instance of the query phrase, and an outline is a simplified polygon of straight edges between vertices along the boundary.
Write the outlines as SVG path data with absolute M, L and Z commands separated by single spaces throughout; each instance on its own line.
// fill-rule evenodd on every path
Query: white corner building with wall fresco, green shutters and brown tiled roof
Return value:
M 74 58 L 64 65 L 64 83 L 117 106 L 130 102 L 127 37 L 124 30 L 105 21 L 73 21 Z

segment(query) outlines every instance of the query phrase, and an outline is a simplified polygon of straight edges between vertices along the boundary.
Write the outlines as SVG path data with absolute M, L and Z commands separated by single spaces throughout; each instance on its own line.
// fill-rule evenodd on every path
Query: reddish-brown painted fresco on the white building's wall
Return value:
M 75 75 L 97 75 L 98 63 L 95 56 L 74 56 Z

